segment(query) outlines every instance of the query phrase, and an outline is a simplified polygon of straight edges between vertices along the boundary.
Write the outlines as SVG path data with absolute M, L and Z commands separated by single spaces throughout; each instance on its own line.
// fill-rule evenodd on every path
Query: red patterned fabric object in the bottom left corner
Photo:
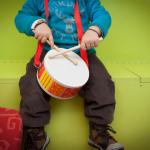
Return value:
M 0 107 L 0 150 L 20 150 L 22 120 L 16 110 Z

